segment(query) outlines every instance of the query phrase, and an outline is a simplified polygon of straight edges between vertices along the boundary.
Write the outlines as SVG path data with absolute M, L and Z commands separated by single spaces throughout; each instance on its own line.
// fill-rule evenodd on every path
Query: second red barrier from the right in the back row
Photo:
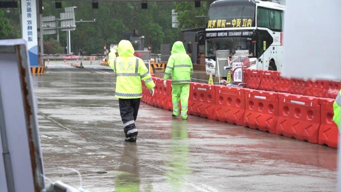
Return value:
M 307 81 L 306 95 L 314 97 L 326 97 L 328 90 L 328 81 Z

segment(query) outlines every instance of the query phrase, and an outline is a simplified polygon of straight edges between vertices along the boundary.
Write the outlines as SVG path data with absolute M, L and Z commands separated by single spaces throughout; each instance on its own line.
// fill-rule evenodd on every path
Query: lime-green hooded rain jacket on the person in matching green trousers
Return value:
M 164 79 L 171 77 L 171 83 L 190 83 L 193 65 L 186 54 L 183 43 L 176 41 L 171 47 L 171 56 L 168 59 Z

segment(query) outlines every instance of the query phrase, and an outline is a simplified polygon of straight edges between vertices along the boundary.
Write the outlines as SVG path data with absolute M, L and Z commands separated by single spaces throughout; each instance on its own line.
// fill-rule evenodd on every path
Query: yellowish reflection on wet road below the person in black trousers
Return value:
M 125 143 L 121 156 L 122 165 L 114 179 L 115 192 L 139 192 L 140 174 L 137 145 Z

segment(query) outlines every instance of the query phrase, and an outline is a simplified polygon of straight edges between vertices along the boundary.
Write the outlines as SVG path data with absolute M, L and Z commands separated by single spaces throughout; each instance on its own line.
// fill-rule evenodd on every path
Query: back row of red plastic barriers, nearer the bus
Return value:
M 243 74 L 248 88 L 265 91 L 335 98 L 341 88 L 340 81 L 288 79 L 278 71 L 244 69 Z

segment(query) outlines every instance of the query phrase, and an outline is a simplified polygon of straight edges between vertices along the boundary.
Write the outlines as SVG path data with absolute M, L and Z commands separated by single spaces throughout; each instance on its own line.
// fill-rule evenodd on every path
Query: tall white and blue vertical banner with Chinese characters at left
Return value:
M 36 0 L 21 1 L 22 38 L 27 42 L 30 66 L 38 66 L 38 32 Z

